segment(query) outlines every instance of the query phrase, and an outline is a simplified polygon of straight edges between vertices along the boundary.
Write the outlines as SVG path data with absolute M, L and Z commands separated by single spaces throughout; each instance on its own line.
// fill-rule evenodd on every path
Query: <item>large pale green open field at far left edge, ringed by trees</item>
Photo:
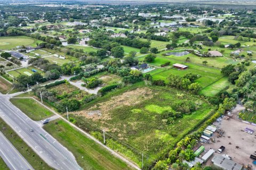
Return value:
M 42 43 L 42 41 L 26 36 L 0 37 L 0 49 L 11 49 L 22 45 L 36 46 L 36 43 Z

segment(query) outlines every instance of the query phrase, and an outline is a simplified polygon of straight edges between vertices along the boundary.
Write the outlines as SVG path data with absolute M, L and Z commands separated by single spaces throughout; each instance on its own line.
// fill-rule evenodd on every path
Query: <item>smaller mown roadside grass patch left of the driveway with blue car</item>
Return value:
M 34 99 L 11 98 L 10 101 L 34 121 L 40 121 L 53 115 L 51 111 Z

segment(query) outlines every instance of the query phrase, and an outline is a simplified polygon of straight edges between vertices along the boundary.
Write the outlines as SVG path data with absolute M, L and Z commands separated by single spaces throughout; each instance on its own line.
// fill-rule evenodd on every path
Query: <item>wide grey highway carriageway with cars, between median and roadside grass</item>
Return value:
M 54 169 L 82 169 L 67 148 L 15 107 L 7 95 L 0 94 L 0 117 Z M 34 131 L 31 132 L 30 129 Z

